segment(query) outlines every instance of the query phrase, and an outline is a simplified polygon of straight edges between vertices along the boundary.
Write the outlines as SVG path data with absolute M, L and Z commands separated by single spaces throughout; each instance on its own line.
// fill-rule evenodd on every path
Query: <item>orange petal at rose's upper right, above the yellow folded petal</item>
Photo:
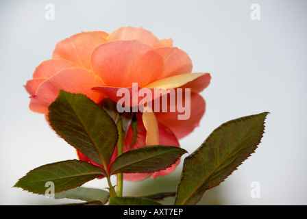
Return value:
M 158 47 L 156 51 L 164 59 L 165 68 L 162 78 L 191 73 L 193 64 L 186 52 L 177 47 Z

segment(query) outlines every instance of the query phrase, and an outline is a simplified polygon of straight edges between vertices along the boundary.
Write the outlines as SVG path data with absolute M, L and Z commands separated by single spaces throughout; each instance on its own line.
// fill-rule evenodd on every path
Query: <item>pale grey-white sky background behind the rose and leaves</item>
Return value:
M 45 19 L 53 3 L 55 20 Z M 250 6 L 260 5 L 260 21 Z M 270 112 L 262 143 L 238 170 L 212 191 L 207 204 L 306 205 L 307 164 L 307 1 L 1 1 L 0 2 L 0 204 L 54 203 L 12 188 L 29 170 L 75 159 L 75 150 L 58 138 L 44 116 L 30 112 L 23 88 L 34 68 L 51 58 L 56 42 L 80 31 L 110 33 L 144 27 L 158 38 L 173 38 L 193 60 L 193 72 L 211 73 L 202 92 L 207 109 L 200 127 L 180 143 L 192 153 L 228 120 Z M 169 178 L 125 182 L 125 194 L 147 194 Z M 260 198 L 251 198 L 251 183 Z M 150 185 L 150 186 L 148 186 Z M 104 180 L 88 186 L 104 188 Z M 158 191 L 156 191 L 158 192 Z M 204 196 L 204 197 L 205 197 Z

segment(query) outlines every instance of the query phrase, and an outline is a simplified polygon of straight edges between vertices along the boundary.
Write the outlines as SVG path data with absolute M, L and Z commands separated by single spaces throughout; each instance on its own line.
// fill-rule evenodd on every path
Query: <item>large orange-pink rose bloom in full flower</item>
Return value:
M 122 27 L 111 34 L 87 31 L 66 38 L 53 51 L 51 60 L 42 62 L 27 81 L 30 110 L 47 114 L 49 105 L 60 90 L 86 94 L 101 104 L 108 96 L 117 103 L 116 92 L 131 88 L 191 88 L 191 116 L 178 120 L 179 112 L 136 113 L 138 142 L 132 148 L 149 144 L 179 146 L 178 139 L 191 133 L 205 112 L 205 101 L 199 95 L 210 83 L 208 73 L 191 73 L 188 55 L 173 47 L 173 40 L 158 40 L 142 27 Z M 132 127 L 127 131 L 124 152 L 132 149 Z M 79 159 L 90 161 L 78 152 Z M 112 163 L 112 162 L 111 162 Z M 139 181 L 152 175 L 165 175 L 175 169 L 151 174 L 124 175 L 125 179 Z

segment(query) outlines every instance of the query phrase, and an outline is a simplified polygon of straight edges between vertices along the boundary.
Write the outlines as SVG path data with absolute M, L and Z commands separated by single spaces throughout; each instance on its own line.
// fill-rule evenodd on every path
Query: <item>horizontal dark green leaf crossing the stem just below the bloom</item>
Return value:
M 186 150 L 177 146 L 143 146 L 139 149 L 127 151 L 113 162 L 111 175 L 125 172 L 156 172 L 165 170 L 180 159 Z

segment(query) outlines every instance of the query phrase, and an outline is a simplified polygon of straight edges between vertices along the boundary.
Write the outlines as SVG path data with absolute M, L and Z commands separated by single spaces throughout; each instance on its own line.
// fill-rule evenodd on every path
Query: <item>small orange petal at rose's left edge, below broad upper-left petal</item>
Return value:
M 49 78 L 56 75 L 60 70 L 75 67 L 77 67 L 76 64 L 67 60 L 46 60 L 35 68 L 33 78 Z

